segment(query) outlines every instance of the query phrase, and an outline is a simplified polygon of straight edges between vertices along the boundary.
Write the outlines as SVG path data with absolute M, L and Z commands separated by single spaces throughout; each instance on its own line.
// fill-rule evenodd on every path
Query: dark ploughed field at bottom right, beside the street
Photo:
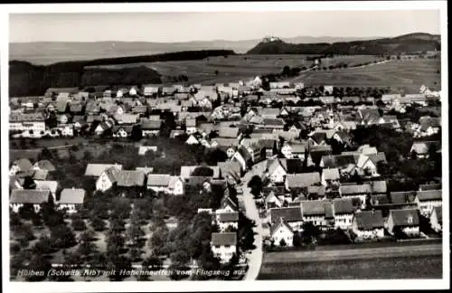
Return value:
M 391 244 L 266 253 L 258 279 L 441 278 L 440 243 Z

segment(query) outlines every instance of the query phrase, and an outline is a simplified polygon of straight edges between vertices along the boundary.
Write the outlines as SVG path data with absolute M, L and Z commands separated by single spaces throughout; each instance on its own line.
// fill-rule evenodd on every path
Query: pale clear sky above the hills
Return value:
M 440 33 L 438 10 L 10 14 L 11 43 L 187 42 Z

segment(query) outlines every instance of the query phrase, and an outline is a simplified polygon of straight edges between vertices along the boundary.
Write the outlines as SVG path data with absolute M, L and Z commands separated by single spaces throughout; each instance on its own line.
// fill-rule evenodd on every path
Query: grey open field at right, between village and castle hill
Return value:
M 309 71 L 301 73 L 292 81 L 303 81 L 305 86 L 322 84 L 340 87 L 388 87 L 404 88 L 409 93 L 419 92 L 422 84 L 431 90 L 441 86 L 441 63 L 439 59 L 389 61 L 360 68 L 333 71 Z

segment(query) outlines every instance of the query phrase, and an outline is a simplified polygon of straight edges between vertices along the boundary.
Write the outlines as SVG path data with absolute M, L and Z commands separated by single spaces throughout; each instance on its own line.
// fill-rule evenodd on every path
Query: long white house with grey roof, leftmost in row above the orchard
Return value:
M 31 204 L 34 213 L 39 213 L 42 203 L 48 203 L 50 196 L 50 190 L 14 189 L 9 199 L 9 206 L 14 213 L 18 213 L 24 204 Z

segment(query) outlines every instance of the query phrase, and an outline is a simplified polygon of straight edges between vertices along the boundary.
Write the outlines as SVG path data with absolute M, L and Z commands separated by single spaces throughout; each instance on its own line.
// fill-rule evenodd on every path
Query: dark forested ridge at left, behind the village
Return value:
M 200 60 L 210 56 L 231 55 L 225 50 L 171 52 L 150 56 L 104 58 L 90 61 L 66 61 L 33 65 L 27 61 L 9 62 L 10 97 L 40 96 L 48 88 L 94 85 L 137 85 L 161 83 L 160 74 L 146 66 L 106 69 L 90 66 L 142 63 L 152 61 Z

